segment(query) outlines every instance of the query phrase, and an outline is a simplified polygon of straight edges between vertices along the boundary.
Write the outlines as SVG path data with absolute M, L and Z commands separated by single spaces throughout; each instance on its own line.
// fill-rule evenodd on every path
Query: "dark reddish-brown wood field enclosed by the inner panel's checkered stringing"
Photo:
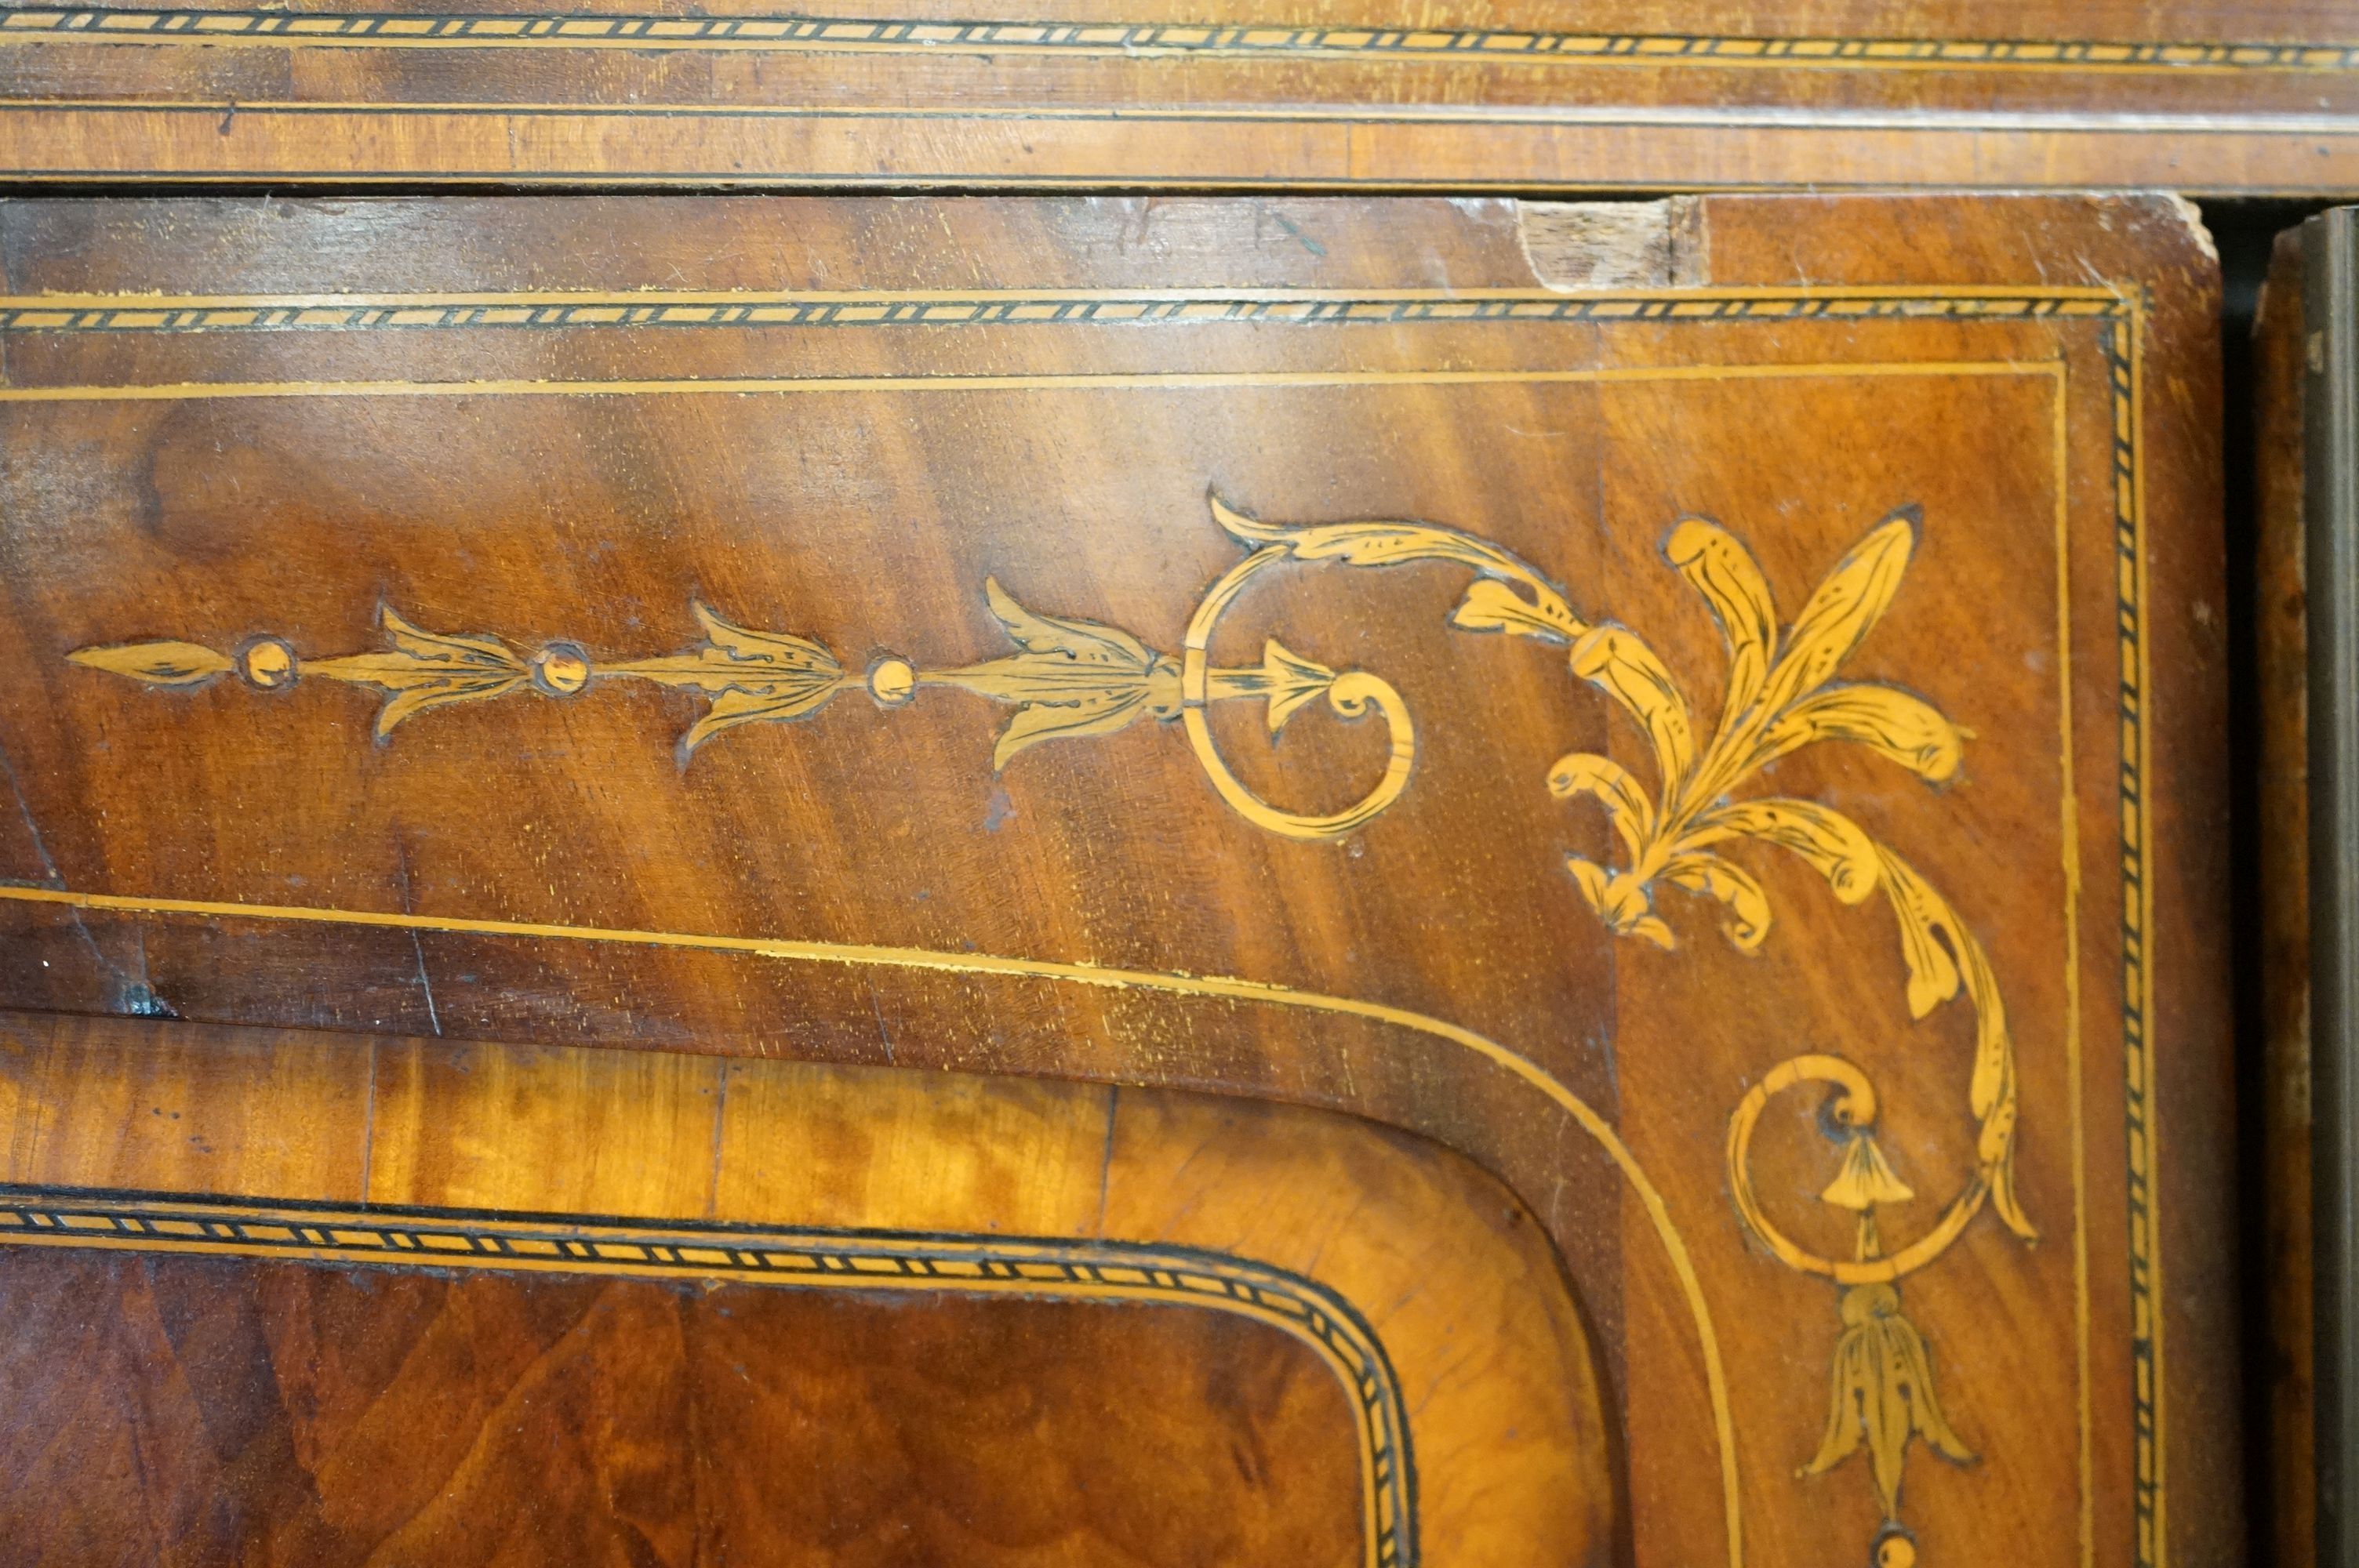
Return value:
M 0 1320 L 9 1563 L 1361 1551 L 1342 1386 L 1227 1313 L 7 1250 Z

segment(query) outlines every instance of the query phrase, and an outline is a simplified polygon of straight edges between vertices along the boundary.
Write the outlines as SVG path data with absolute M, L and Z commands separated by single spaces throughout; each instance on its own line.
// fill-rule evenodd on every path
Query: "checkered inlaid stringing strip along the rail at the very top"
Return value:
M 1125 59 L 1380 59 L 1573 66 L 1849 71 L 2352 71 L 2359 45 L 2109 42 L 2083 38 L 1760 38 L 1507 28 L 1352 28 L 885 17 L 616 17 L 24 9 L 0 40 L 377 50 L 757 50 L 889 54 L 1113 54 Z

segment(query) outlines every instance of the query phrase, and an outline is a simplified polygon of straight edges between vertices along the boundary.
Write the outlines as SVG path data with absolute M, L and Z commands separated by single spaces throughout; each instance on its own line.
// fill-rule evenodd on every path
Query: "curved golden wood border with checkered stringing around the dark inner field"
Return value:
M 0 1014 L 0 1254 L 1220 1311 L 1307 1344 L 1338 1377 L 1371 1568 L 1522 1568 L 1526 1547 L 1569 1561 L 1611 1528 L 1592 1349 L 1543 1231 L 1463 1158 L 1356 1118 L 42 1014 Z M 1432 1464 L 1415 1462 L 1418 1434 Z

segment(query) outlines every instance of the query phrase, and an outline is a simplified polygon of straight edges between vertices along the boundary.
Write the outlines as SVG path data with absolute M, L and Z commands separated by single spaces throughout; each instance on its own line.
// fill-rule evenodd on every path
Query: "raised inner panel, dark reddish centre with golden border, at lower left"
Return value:
M 118 1129 L 40 1087 L 14 1106 L 19 1141 L 113 1134 L 57 1139 L 0 1191 L 19 1323 L 0 1493 L 35 1556 L 1609 1549 L 1609 1438 L 1562 1269 L 1522 1205 L 1420 1139 L 1170 1092 L 743 1061 L 727 1125 L 705 1106 L 691 1144 L 644 1068 L 719 1073 L 694 1056 L 328 1054 L 45 1016 L 0 1019 L 0 1040 L 139 1078 L 177 1113 Z M 368 1052 L 401 1070 L 356 1080 Z M 375 1137 L 309 1113 L 351 1087 Z M 276 1158 L 212 1137 L 257 1118 L 283 1127 Z M 387 1160 L 389 1122 L 453 1158 Z M 373 1155 L 370 1207 L 283 1203 L 314 1195 L 285 1184 L 288 1151 Z M 125 1170 L 212 1200 L 92 1191 Z M 668 1207 L 712 1191 L 722 1224 Z M 106 1261 L 123 1252 L 142 1257 Z M 186 1462 L 116 1464 L 142 1450 Z

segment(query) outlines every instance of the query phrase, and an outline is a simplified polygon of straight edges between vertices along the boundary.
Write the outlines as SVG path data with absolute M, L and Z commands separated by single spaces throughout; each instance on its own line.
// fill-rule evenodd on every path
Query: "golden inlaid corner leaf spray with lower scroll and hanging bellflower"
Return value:
M 1965 997 L 1974 1012 L 1974 1061 L 1967 1113 L 1974 1120 L 1974 1174 L 1941 1217 L 1918 1238 L 1887 1247 L 1878 1207 L 1911 1200 L 1875 1141 L 1875 1089 L 1840 1056 L 1802 1054 L 1776 1063 L 1729 1118 L 1729 1191 L 1746 1228 L 1790 1269 L 1833 1280 L 1840 1335 L 1833 1365 L 1833 1408 L 1826 1436 L 1805 1474 L 1824 1474 L 1868 1452 L 1871 1481 L 1897 1533 L 1901 1464 L 1911 1441 L 1925 1441 L 1953 1462 L 1967 1445 L 1951 1429 L 1932 1382 L 1925 1337 L 1901 1313 L 1897 1283 L 1941 1257 L 1984 1205 L 2019 1238 L 2036 1233 L 2015 1198 L 2015 1042 L 2008 1033 L 1998 979 L 1982 943 L 1951 903 L 1901 856 L 1859 823 L 1819 802 L 1743 795 L 1779 757 L 1821 740 L 1866 747 L 1939 785 L 1958 776 L 1967 731 L 1939 710 L 1882 681 L 1835 679 L 1842 665 L 1892 606 L 1920 514 L 1901 507 L 1882 519 L 1802 604 L 1790 625 L 1779 620 L 1769 580 L 1736 535 L 1708 519 L 1673 528 L 1665 559 L 1710 606 L 1727 648 L 1720 717 L 1698 738 L 1696 710 L 1647 641 L 1621 625 L 1592 622 L 1531 566 L 1456 528 L 1413 521 L 1272 526 L 1229 512 L 1215 516 L 1257 547 L 1253 559 L 1283 554 L 1300 561 L 1397 566 L 1444 561 L 1474 571 L 1451 625 L 1505 632 L 1562 646 L 1576 679 L 1602 691 L 1644 738 L 1654 785 L 1595 752 L 1557 759 L 1548 788 L 1559 799 L 1590 799 L 1611 823 L 1621 868 L 1571 856 L 1566 868 L 1581 896 L 1618 936 L 1677 948 L 1673 927 L 1654 908 L 1658 887 L 1675 887 L 1717 903 L 1727 938 L 1760 948 L 1769 936 L 1769 896 L 1750 870 L 1727 858 L 1746 844 L 1783 849 L 1816 870 L 1840 903 L 1882 894 L 1899 931 L 1906 1002 L 1925 1019 Z M 1753 1129 L 1776 1094 L 1826 1085 L 1828 1122 L 1842 1141 L 1842 1162 L 1821 1200 L 1854 1214 L 1852 1257 L 1821 1257 L 1795 1243 L 1769 1217 L 1753 1186 Z M 1899 1533 L 1904 1540 L 1906 1533 Z

